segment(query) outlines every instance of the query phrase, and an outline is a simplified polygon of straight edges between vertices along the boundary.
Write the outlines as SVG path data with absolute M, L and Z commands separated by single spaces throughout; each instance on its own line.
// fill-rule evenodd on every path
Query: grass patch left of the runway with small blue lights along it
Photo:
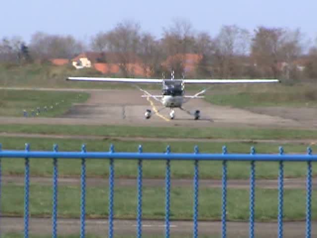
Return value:
M 0 90 L 0 115 L 23 117 L 26 110 L 31 116 L 31 110 L 36 112 L 40 107 L 41 117 L 55 117 L 65 113 L 72 103 L 82 103 L 88 98 L 89 94 L 77 92 Z M 44 111 L 45 106 L 48 111 Z

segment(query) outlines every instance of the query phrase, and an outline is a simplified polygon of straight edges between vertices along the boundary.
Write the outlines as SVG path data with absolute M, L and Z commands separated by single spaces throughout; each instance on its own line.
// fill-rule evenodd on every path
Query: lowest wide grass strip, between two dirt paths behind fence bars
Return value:
M 1 200 L 2 215 L 23 215 L 24 186 L 3 185 Z M 276 189 L 256 189 L 256 220 L 268 221 L 277 218 Z M 20 195 L 21 194 L 21 195 Z M 87 217 L 107 217 L 108 188 L 87 187 Z M 284 190 L 284 220 L 305 219 L 305 190 Z M 165 193 L 162 187 L 143 187 L 143 218 L 163 219 L 165 215 Z M 126 199 L 130 198 L 130 199 Z M 135 218 L 137 192 L 134 187 L 120 187 L 114 190 L 115 218 Z M 296 206 L 294 206 L 294 202 Z M 313 193 L 312 204 L 317 202 Z M 153 204 L 156 204 L 153 206 Z M 239 205 L 237 205 L 239 204 Z M 58 187 L 58 216 L 79 217 L 80 186 Z M 312 207 L 312 218 L 317 218 L 316 207 Z M 201 188 L 199 191 L 199 219 L 219 220 L 221 218 L 221 189 Z M 43 185 L 30 186 L 31 216 L 50 217 L 52 212 L 52 187 Z M 228 220 L 249 219 L 249 191 L 246 189 L 228 189 Z M 190 220 L 193 217 L 193 189 L 171 187 L 171 219 Z

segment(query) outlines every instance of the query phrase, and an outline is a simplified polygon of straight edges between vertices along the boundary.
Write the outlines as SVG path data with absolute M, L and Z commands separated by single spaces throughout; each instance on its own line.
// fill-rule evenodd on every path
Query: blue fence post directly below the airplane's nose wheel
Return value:
M 170 146 L 166 147 L 166 154 L 170 153 Z M 169 238 L 169 207 L 170 207 L 170 159 L 166 160 L 165 175 L 165 238 Z

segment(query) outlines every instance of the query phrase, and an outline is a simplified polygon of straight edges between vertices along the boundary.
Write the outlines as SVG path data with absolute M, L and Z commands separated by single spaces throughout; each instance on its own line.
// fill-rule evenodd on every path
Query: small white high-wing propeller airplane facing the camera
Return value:
M 152 95 L 148 91 L 136 86 L 144 93 L 142 97 L 153 98 L 163 105 L 163 108 L 155 113 L 160 112 L 164 108 L 169 108 L 169 118 L 175 118 L 175 108 L 185 111 L 192 115 L 195 120 L 200 119 L 200 111 L 195 110 L 193 113 L 184 109 L 182 106 L 191 99 L 204 98 L 202 96 L 209 88 L 199 91 L 194 95 L 185 95 L 185 84 L 228 84 L 228 83 L 275 83 L 279 82 L 277 79 L 185 79 L 184 74 L 181 79 L 174 78 L 174 71 L 171 73 L 170 79 L 158 78 L 102 78 L 102 77 L 68 77 L 66 80 L 72 81 L 95 81 L 95 82 L 114 82 L 114 83 L 161 83 L 161 95 Z M 152 111 L 147 109 L 144 114 L 146 119 L 150 119 Z

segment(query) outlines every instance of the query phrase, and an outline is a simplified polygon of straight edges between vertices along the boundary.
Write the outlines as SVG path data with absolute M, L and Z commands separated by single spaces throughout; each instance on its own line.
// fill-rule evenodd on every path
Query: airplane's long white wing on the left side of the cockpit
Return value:
M 68 77 L 71 81 L 93 81 L 93 82 L 113 82 L 113 83 L 162 83 L 158 78 L 101 78 L 101 77 Z

